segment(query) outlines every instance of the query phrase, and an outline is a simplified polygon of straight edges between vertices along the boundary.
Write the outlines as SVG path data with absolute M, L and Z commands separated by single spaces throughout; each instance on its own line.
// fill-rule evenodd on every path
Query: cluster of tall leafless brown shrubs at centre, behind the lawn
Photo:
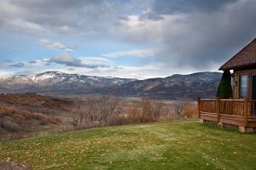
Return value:
M 129 104 L 122 98 L 103 95 L 76 102 L 70 116 L 73 126 L 78 128 L 123 125 L 156 122 L 163 113 L 162 109 L 163 102 L 159 100 L 143 98 Z

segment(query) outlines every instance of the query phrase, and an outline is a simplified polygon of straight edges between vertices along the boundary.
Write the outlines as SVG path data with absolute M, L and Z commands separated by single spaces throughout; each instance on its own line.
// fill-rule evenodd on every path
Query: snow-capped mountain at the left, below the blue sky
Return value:
M 0 90 L 2 89 L 0 93 L 93 94 L 102 89 L 113 88 L 132 81 L 135 80 L 46 71 L 32 76 L 17 75 L 2 79 L 0 80 Z

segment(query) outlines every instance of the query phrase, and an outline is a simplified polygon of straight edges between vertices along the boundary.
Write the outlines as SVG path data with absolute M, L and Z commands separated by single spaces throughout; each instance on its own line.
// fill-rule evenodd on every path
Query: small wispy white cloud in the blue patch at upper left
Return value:
M 50 49 L 62 49 L 66 52 L 73 52 L 72 48 L 67 47 L 67 45 L 61 42 L 52 42 L 46 39 L 42 39 L 42 40 L 39 40 L 38 43 Z

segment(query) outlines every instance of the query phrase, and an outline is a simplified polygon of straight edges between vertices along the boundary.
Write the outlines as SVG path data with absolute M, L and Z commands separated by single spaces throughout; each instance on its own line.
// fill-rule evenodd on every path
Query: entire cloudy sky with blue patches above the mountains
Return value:
M 0 78 L 218 71 L 255 37 L 255 0 L 0 0 Z

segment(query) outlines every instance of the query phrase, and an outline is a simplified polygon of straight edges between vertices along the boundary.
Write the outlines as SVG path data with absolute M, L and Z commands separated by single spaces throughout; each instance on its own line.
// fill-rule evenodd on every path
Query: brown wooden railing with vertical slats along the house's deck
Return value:
M 234 116 L 256 116 L 256 100 L 199 99 L 198 111 Z

